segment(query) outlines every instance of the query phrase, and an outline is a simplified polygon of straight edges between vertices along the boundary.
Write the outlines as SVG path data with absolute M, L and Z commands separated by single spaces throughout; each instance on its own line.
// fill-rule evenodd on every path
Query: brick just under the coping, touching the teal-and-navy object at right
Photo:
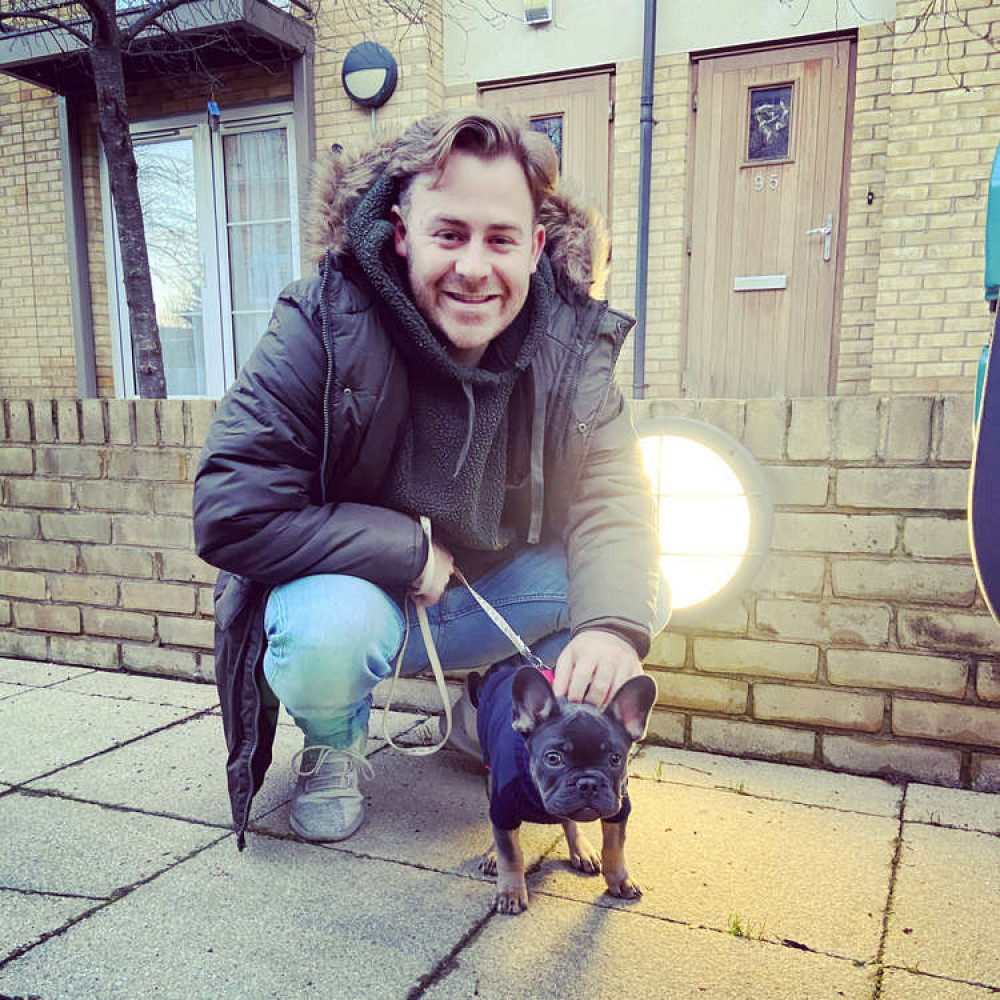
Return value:
M 966 469 L 839 469 L 841 507 L 965 510 Z

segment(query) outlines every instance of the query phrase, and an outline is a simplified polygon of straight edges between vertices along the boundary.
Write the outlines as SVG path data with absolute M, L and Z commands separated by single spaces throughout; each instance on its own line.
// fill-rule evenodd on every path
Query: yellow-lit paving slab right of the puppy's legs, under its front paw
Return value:
M 895 820 L 651 781 L 632 781 L 629 792 L 629 872 L 641 900 L 604 895 L 603 878 L 571 869 L 562 848 L 529 891 L 723 931 L 733 918 L 768 941 L 860 961 L 877 955 Z M 597 846 L 600 828 L 591 827 Z

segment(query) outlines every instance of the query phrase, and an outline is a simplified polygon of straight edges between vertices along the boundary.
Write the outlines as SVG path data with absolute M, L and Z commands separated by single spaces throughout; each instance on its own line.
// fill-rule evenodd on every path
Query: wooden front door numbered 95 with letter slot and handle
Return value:
M 699 60 L 684 391 L 834 385 L 849 41 Z

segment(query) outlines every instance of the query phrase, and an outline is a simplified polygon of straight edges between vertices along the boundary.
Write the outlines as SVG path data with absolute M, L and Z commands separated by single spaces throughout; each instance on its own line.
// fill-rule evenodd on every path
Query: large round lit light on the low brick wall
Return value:
M 710 424 L 663 417 L 643 424 L 639 435 L 673 596 L 671 624 L 701 619 L 742 593 L 768 553 L 767 481 L 753 455 Z

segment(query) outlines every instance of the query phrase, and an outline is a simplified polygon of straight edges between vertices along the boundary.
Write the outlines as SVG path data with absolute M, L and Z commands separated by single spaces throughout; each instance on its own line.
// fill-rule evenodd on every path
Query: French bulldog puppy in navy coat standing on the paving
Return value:
M 653 678 L 626 681 L 603 711 L 557 698 L 542 672 L 528 666 L 491 668 L 482 680 L 470 678 L 469 693 L 490 768 L 494 846 L 480 869 L 496 875 L 496 910 L 516 914 L 528 906 L 518 841 L 522 821 L 562 823 L 575 868 L 589 875 L 603 870 L 612 896 L 641 896 L 625 864 L 627 767 L 656 701 Z M 600 854 L 577 826 L 596 819 Z

